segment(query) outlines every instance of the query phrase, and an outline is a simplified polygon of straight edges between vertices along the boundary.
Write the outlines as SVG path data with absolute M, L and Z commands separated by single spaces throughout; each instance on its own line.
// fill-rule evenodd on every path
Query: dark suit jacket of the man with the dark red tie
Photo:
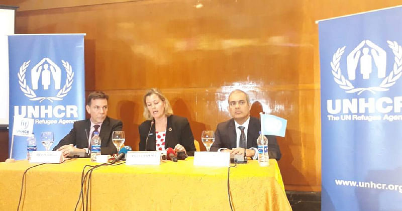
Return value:
M 68 133 L 62 140 L 60 140 L 59 144 L 53 148 L 53 151 L 60 148 L 61 146 L 69 144 L 73 144 L 80 149 L 88 148 L 88 136 L 90 136 L 90 127 L 90 119 L 74 122 L 73 128 L 71 129 L 70 133 Z M 102 127 L 100 127 L 99 132 L 99 137 L 102 140 L 102 143 L 100 143 L 101 154 L 111 155 L 117 153 L 117 149 L 112 142 L 112 132 L 121 131 L 122 129 L 122 121 L 106 117 L 106 119 L 102 123 Z

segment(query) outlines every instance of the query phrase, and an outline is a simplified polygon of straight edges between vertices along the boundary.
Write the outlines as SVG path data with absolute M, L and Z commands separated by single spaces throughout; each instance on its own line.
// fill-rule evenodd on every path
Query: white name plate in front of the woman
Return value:
M 129 151 L 126 165 L 160 165 L 161 152 Z

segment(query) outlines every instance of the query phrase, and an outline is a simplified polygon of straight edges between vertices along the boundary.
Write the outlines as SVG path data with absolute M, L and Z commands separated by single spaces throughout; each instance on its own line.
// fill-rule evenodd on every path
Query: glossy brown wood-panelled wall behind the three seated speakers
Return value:
M 3 3 L 2 3 L 3 2 Z M 286 189 L 321 190 L 316 20 L 399 1 L 0 1 L 18 5 L 16 33 L 86 33 L 85 90 L 110 94 L 138 149 L 142 95 L 160 88 L 194 137 L 229 118 L 226 98 L 249 91 L 252 115 L 288 120 L 279 166 Z M 105 3 L 105 4 L 104 4 Z M 108 4 L 107 4 L 108 3 Z M 203 7 L 195 7 L 198 3 Z M 95 5 L 96 4 L 96 5 Z M 198 5 L 199 6 L 199 5 Z

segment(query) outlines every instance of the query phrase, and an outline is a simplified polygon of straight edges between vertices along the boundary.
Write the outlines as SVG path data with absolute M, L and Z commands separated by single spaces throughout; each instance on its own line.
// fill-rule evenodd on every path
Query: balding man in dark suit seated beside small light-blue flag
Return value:
M 210 151 L 244 154 L 246 149 L 247 157 L 257 159 L 257 138 L 261 131 L 261 123 L 259 119 L 250 117 L 250 98 L 246 92 L 236 89 L 229 94 L 228 101 L 229 112 L 233 118 L 218 124 L 215 142 Z M 279 160 L 282 155 L 275 136 L 266 137 L 269 158 Z

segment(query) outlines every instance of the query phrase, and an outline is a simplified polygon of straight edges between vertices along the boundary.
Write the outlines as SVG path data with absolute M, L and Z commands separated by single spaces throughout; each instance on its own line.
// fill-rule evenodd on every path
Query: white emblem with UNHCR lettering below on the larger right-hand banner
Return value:
M 341 72 L 341 58 L 346 46 L 338 48 L 332 56 L 331 69 L 334 81 L 346 93 L 360 95 L 365 91 L 372 94 L 388 91 L 402 76 L 402 47 L 396 41 L 387 41 L 393 53 L 393 65 L 386 73 L 386 51 L 370 40 L 361 41 L 346 57 L 347 77 Z M 389 61 L 389 60 L 388 60 Z M 367 86 L 356 86 L 357 79 Z M 364 81 L 367 81 L 365 83 Z M 362 98 L 343 98 L 327 100 L 328 120 L 402 120 L 402 96 L 381 96 Z M 394 113 L 396 115 L 388 115 Z M 367 115 L 368 114 L 368 115 Z M 341 116 L 339 116 L 341 115 Z

